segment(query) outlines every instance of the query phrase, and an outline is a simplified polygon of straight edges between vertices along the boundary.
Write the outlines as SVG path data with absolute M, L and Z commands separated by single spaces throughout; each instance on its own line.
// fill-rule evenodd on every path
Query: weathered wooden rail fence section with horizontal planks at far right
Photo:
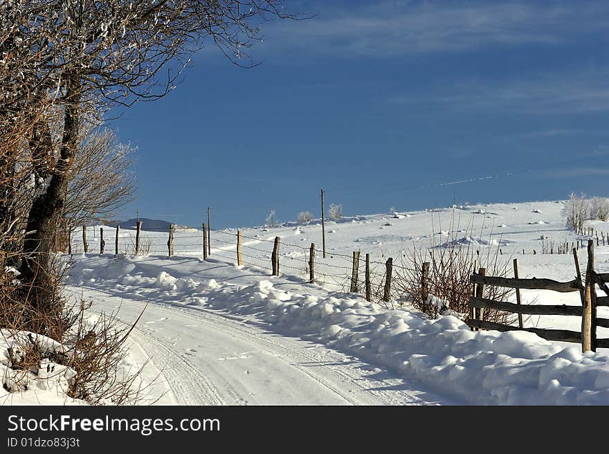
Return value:
M 594 271 L 594 241 L 588 241 L 588 266 L 585 273 L 585 284 L 581 279 L 577 249 L 573 249 L 576 264 L 576 278 L 569 282 L 558 282 L 550 279 L 520 279 L 516 277 L 499 278 L 487 276 L 484 269 L 480 269 L 478 274 L 471 276 L 474 284 L 473 296 L 469 300 L 470 319 L 467 324 L 475 330 L 495 329 L 497 331 L 522 330 L 532 332 L 547 339 L 548 341 L 565 341 L 581 343 L 583 352 L 592 350 L 596 352 L 597 347 L 609 348 L 609 338 L 597 338 L 597 327 L 609 328 L 609 319 L 597 318 L 597 306 L 609 306 L 609 273 L 597 273 Z M 517 302 L 501 302 L 484 298 L 485 286 L 505 287 L 516 289 Z M 606 293 L 606 296 L 597 297 L 596 286 Z M 581 306 L 572 305 L 522 305 L 520 304 L 520 289 L 552 290 L 556 292 L 579 292 Z M 557 315 L 557 316 L 580 316 L 581 331 L 569 331 L 566 329 L 541 329 L 525 328 L 522 323 L 518 327 L 493 323 L 484 318 L 484 308 L 495 309 L 498 311 L 511 312 L 513 314 L 531 315 Z

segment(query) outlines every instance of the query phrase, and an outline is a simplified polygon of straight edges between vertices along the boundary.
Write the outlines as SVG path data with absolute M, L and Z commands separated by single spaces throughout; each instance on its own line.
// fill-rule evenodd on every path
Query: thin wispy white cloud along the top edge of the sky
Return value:
M 399 56 L 493 45 L 559 44 L 609 25 L 606 3 L 381 1 L 332 8 L 263 28 L 271 50 L 334 56 Z

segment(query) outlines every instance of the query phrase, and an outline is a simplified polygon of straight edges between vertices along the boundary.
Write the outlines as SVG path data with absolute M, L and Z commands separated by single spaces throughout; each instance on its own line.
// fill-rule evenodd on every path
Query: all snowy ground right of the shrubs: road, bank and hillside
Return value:
M 502 259 L 518 257 L 521 278 L 572 280 L 572 255 L 541 253 L 542 235 L 556 243 L 583 239 L 565 228 L 562 207 L 493 204 L 328 222 L 327 258 L 316 257 L 325 282 L 316 284 L 306 283 L 304 265 L 309 244 L 321 246 L 318 224 L 242 229 L 244 266 L 235 266 L 236 230 L 212 231 L 206 262 L 195 229 L 176 231 L 170 258 L 167 233 L 144 232 L 149 256 L 75 253 L 69 291 L 93 299 L 96 311 L 119 310 L 125 323 L 149 303 L 131 336 L 132 352 L 136 363 L 152 361 L 144 376 L 155 383 L 150 398 L 162 395 L 160 403 L 608 404 L 606 349 L 582 354 L 577 344 L 527 332 L 472 332 L 454 316 L 430 320 L 408 305 L 385 308 L 337 291 L 352 251 L 399 263 L 413 245 L 442 244 L 453 235 L 482 256 L 500 247 Z M 590 225 L 609 231 L 609 223 Z M 120 235 L 127 244 L 133 232 Z M 279 277 L 269 272 L 275 236 L 282 239 Z M 112 241 L 106 235 L 106 251 L 113 252 Z M 73 239 L 73 251 L 79 247 Z M 609 246 L 597 248 L 597 270 L 609 271 L 608 252 Z M 582 269 L 585 260 L 582 251 Z M 579 293 L 522 291 L 522 297 L 525 304 L 581 304 Z M 609 317 L 606 310 L 599 308 L 599 317 Z M 580 323 L 527 319 L 574 331 Z M 598 334 L 609 337 L 609 330 Z

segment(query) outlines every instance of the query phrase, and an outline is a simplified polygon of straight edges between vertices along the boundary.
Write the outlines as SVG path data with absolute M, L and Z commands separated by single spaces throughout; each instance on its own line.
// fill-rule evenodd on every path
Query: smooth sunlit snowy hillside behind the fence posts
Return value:
M 511 258 L 520 261 L 521 278 L 551 278 L 554 280 L 572 280 L 576 271 L 573 256 L 543 255 L 543 239 L 556 244 L 587 240 L 587 237 L 574 235 L 565 228 L 561 215 L 562 201 L 539 201 L 528 203 L 496 203 L 491 205 L 465 206 L 462 208 L 443 208 L 419 212 L 399 212 L 397 215 L 361 215 L 345 217 L 336 223 L 327 221 L 326 244 L 327 258 L 316 255 L 316 279 L 325 287 L 335 291 L 348 289 L 351 275 L 353 251 L 361 251 L 361 257 L 370 253 L 372 271 L 383 272 L 387 257 L 394 257 L 394 264 L 401 264 L 402 256 L 418 248 L 443 244 L 449 239 L 465 239 L 471 247 L 480 250 L 482 257 L 494 255 L 500 248 L 502 260 Z M 390 224 L 390 225 L 386 225 Z M 589 221 L 605 235 L 609 233 L 609 222 Z M 237 229 L 212 231 L 212 257 L 236 262 Z M 243 228 L 244 263 L 264 269 L 271 267 L 273 239 L 281 237 L 280 269 L 282 275 L 291 276 L 298 282 L 307 278 L 307 257 L 311 242 L 321 249 L 321 226 L 313 221 L 307 226 L 289 226 L 277 228 Z M 89 229 L 89 251 L 99 251 L 98 242 L 93 239 L 93 229 Z M 113 237 L 106 233 L 106 251 L 113 252 Z M 111 232 L 111 235 L 113 233 Z M 121 230 L 120 244 L 134 250 L 134 231 Z M 97 233 L 99 238 L 99 233 Z M 149 246 L 153 256 L 167 256 L 167 233 L 145 232 L 143 243 Z M 123 248 L 123 246 L 120 246 Z M 122 250 L 122 249 L 121 249 Z M 176 230 L 174 253 L 182 256 L 201 257 L 203 241 L 200 231 L 196 229 Z M 524 253 L 523 253 L 524 250 Z M 82 240 L 73 237 L 73 251 L 82 252 Z M 536 252 L 533 255 L 533 251 Z M 597 247 L 597 270 L 609 271 L 609 245 Z M 581 269 L 586 266 L 585 249 L 579 254 Z M 374 263 L 375 262 L 375 263 Z M 569 304 L 579 305 L 577 293 L 559 294 L 551 291 L 522 291 L 525 303 L 535 304 Z M 609 308 L 599 307 L 599 317 L 609 318 Z M 528 326 L 581 329 L 581 318 L 569 316 L 531 316 L 527 318 Z M 599 328 L 599 337 L 609 337 L 609 329 Z

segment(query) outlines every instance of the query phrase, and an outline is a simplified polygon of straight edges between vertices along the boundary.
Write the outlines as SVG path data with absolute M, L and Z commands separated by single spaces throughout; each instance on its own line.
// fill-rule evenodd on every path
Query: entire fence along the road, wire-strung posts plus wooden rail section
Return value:
M 115 239 L 115 254 L 118 255 L 118 232 L 120 227 L 116 227 L 116 239 Z M 134 247 L 134 252 L 136 254 L 140 253 L 140 232 L 142 230 L 142 222 L 138 221 L 136 225 L 136 242 Z M 174 230 L 175 226 L 172 224 L 168 228 L 168 239 L 167 239 L 167 255 L 171 257 L 174 255 Z M 218 233 L 223 233 L 224 235 L 233 236 L 233 234 L 221 232 L 217 230 Z M 588 233 L 588 232 L 585 232 Z M 593 233 L 593 232 L 590 232 Z M 207 260 L 208 255 L 211 253 L 210 248 L 210 228 L 203 224 L 202 228 L 202 236 L 203 236 L 203 260 Z M 601 233 L 602 234 L 602 233 Z M 244 262 L 244 253 L 243 249 L 243 241 L 241 230 L 237 230 L 236 236 L 236 249 L 237 249 L 237 265 L 242 265 Z M 604 236 L 604 235 L 603 235 Z M 260 239 L 248 237 L 250 239 L 255 239 L 257 241 L 261 241 Z M 231 242 L 224 241 L 222 239 L 216 239 L 223 244 L 230 244 Z M 235 240 L 233 240 L 235 241 Z M 280 237 L 275 237 L 274 240 L 266 240 L 268 242 L 273 243 L 273 252 L 271 253 L 271 268 L 273 275 L 280 274 Z M 84 251 L 88 250 L 87 243 L 87 230 L 83 226 L 82 228 L 82 242 L 84 246 Z M 596 239 L 597 244 L 599 244 L 599 239 Z M 100 253 L 104 253 L 104 237 L 103 230 L 100 229 Z M 305 249 L 303 246 L 286 244 L 287 246 L 294 246 L 296 248 Z M 251 248 L 251 246 L 249 246 Z M 545 338 L 549 341 L 566 341 L 566 342 L 574 342 L 581 343 L 583 351 L 596 351 L 597 347 L 609 348 L 609 338 L 597 339 L 597 327 L 606 327 L 609 328 L 609 319 L 606 318 L 597 318 L 597 306 L 609 306 L 609 287 L 606 282 L 609 282 L 609 273 L 597 273 L 594 271 L 594 240 L 588 240 L 588 266 L 585 273 L 585 283 L 582 280 L 581 271 L 579 269 L 579 259 L 577 256 L 578 247 L 574 247 L 572 249 L 575 266 L 576 266 L 576 278 L 569 282 L 558 282 L 556 280 L 551 279 L 521 279 L 518 277 L 518 259 L 514 260 L 514 278 L 502 278 L 496 276 L 487 276 L 486 270 L 484 268 L 480 268 L 477 274 L 471 276 L 470 280 L 474 284 L 473 288 L 473 296 L 469 298 L 469 308 L 470 308 L 470 317 L 467 320 L 467 324 L 474 330 L 479 329 L 495 329 L 498 331 L 512 331 L 512 330 L 522 330 L 527 332 L 533 332 L 538 336 Z M 315 244 L 311 243 L 310 248 L 306 248 L 309 252 L 308 260 L 303 260 L 307 262 L 308 265 L 308 273 L 309 273 L 309 282 L 313 283 L 317 281 L 316 278 L 316 269 L 315 269 L 315 259 L 316 256 L 316 248 Z M 322 251 L 318 251 L 322 252 Z M 358 274 L 359 274 L 359 262 L 360 262 L 360 252 L 354 251 L 352 256 L 342 255 L 334 253 L 333 255 L 337 255 L 340 257 L 344 257 L 345 259 L 352 262 L 352 266 L 350 266 L 350 292 L 358 291 Z M 247 256 L 247 255 L 246 255 Z M 222 256 L 221 256 L 222 257 Z M 247 256 L 251 257 L 251 256 Z M 227 258 L 227 257 L 224 257 Z M 291 260 L 298 260 L 291 257 Z M 252 264 L 252 263 L 249 263 Z M 372 300 L 372 284 L 370 280 L 370 264 L 377 264 L 379 266 L 383 266 L 385 269 L 384 275 L 384 285 L 382 286 L 382 297 L 381 300 L 384 302 L 390 301 L 391 295 L 391 287 L 392 287 L 392 270 L 394 266 L 392 257 L 389 257 L 386 262 L 372 262 L 370 260 L 370 254 L 365 255 L 365 298 L 366 300 Z M 252 264 L 255 265 L 255 264 Z M 402 268 L 398 265 L 399 268 Z M 293 266 L 287 266 L 289 269 L 293 269 Z M 338 267 L 340 268 L 340 267 Z M 420 282 L 420 291 L 421 291 L 421 300 L 426 301 L 429 295 L 429 273 L 430 273 L 430 264 L 425 262 L 421 266 L 421 282 Z M 596 286 L 606 293 L 606 296 L 597 297 Z M 486 286 L 494 286 L 494 287 L 505 287 L 510 289 L 516 289 L 516 303 L 513 302 L 502 302 L 484 298 L 484 291 Z M 520 298 L 520 290 L 521 289 L 536 289 L 536 290 L 551 290 L 556 292 L 576 292 L 579 291 L 581 306 L 572 306 L 572 305 L 522 305 Z M 484 309 L 493 309 L 497 311 L 505 311 L 513 314 L 518 314 L 518 326 L 513 325 L 505 325 L 502 323 L 495 323 L 484 320 Z M 522 314 L 529 315 L 558 315 L 558 316 L 580 316 L 581 317 L 581 331 L 570 331 L 566 329 L 542 329 L 542 328 L 534 328 L 527 327 L 525 328 L 522 323 Z

